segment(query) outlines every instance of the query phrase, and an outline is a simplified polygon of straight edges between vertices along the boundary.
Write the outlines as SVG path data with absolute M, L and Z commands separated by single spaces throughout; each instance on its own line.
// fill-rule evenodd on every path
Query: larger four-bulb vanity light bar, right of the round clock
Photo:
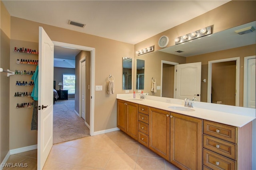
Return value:
M 213 26 L 213 25 L 212 25 Z M 175 45 L 212 34 L 212 26 L 205 27 L 174 39 Z

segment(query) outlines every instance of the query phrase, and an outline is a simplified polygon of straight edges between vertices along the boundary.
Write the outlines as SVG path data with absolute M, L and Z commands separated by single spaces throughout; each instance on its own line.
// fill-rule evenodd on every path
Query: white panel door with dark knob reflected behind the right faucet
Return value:
M 176 98 L 185 99 L 196 97 L 201 100 L 201 62 L 178 64 L 176 79 Z

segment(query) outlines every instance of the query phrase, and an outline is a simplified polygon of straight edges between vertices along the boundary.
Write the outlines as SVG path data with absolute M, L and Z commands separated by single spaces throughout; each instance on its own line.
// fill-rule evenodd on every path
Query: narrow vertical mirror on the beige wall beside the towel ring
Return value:
M 132 89 L 132 58 L 123 57 L 123 90 Z

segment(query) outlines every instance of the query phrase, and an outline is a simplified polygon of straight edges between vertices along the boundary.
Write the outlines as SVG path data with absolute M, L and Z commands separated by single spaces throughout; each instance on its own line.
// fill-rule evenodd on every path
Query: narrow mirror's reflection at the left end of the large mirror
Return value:
M 144 70 L 145 61 L 137 59 L 137 70 L 136 70 L 136 90 L 144 89 Z M 135 67 L 134 67 L 135 68 Z

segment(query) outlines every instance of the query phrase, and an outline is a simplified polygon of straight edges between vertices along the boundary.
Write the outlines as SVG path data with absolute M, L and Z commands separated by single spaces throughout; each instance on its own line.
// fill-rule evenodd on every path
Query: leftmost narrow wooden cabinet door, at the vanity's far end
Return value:
M 126 103 L 123 100 L 117 100 L 117 127 L 126 132 Z

